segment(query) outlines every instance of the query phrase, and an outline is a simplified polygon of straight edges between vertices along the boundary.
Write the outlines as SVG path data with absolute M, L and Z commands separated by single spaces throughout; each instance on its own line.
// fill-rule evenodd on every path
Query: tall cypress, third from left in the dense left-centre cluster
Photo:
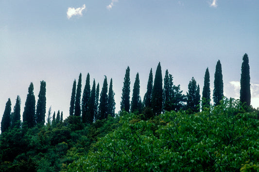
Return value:
M 89 111 L 89 97 L 91 94 L 90 90 L 90 75 L 87 73 L 86 77 L 86 86 L 83 92 L 83 97 L 82 97 L 82 121 L 83 123 L 86 123 L 86 113 Z

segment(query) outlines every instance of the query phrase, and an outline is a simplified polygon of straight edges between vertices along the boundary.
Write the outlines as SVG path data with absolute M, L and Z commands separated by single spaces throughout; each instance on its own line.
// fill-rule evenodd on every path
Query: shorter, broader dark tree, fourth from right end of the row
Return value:
M 200 99 L 200 86 L 199 84 L 197 85 L 196 80 L 192 77 L 188 84 L 187 108 L 191 109 L 193 112 L 200 111 Z

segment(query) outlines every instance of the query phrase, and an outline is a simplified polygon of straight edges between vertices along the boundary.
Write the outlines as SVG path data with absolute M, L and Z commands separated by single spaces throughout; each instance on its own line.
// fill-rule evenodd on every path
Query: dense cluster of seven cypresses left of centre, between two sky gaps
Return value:
M 95 79 L 93 80 L 92 89 L 90 89 L 90 75 L 86 76 L 86 85 L 83 91 L 81 104 L 81 87 L 82 74 L 80 73 L 76 88 L 76 80 L 74 80 L 72 87 L 72 94 L 70 99 L 70 116 L 81 116 L 83 123 L 92 123 L 96 120 L 106 119 L 108 114 L 115 116 L 115 100 L 112 85 L 112 78 L 110 80 L 109 92 L 107 77 L 104 76 L 103 88 L 99 100 L 99 83 L 96 86 Z M 82 113 L 82 114 L 81 114 Z

